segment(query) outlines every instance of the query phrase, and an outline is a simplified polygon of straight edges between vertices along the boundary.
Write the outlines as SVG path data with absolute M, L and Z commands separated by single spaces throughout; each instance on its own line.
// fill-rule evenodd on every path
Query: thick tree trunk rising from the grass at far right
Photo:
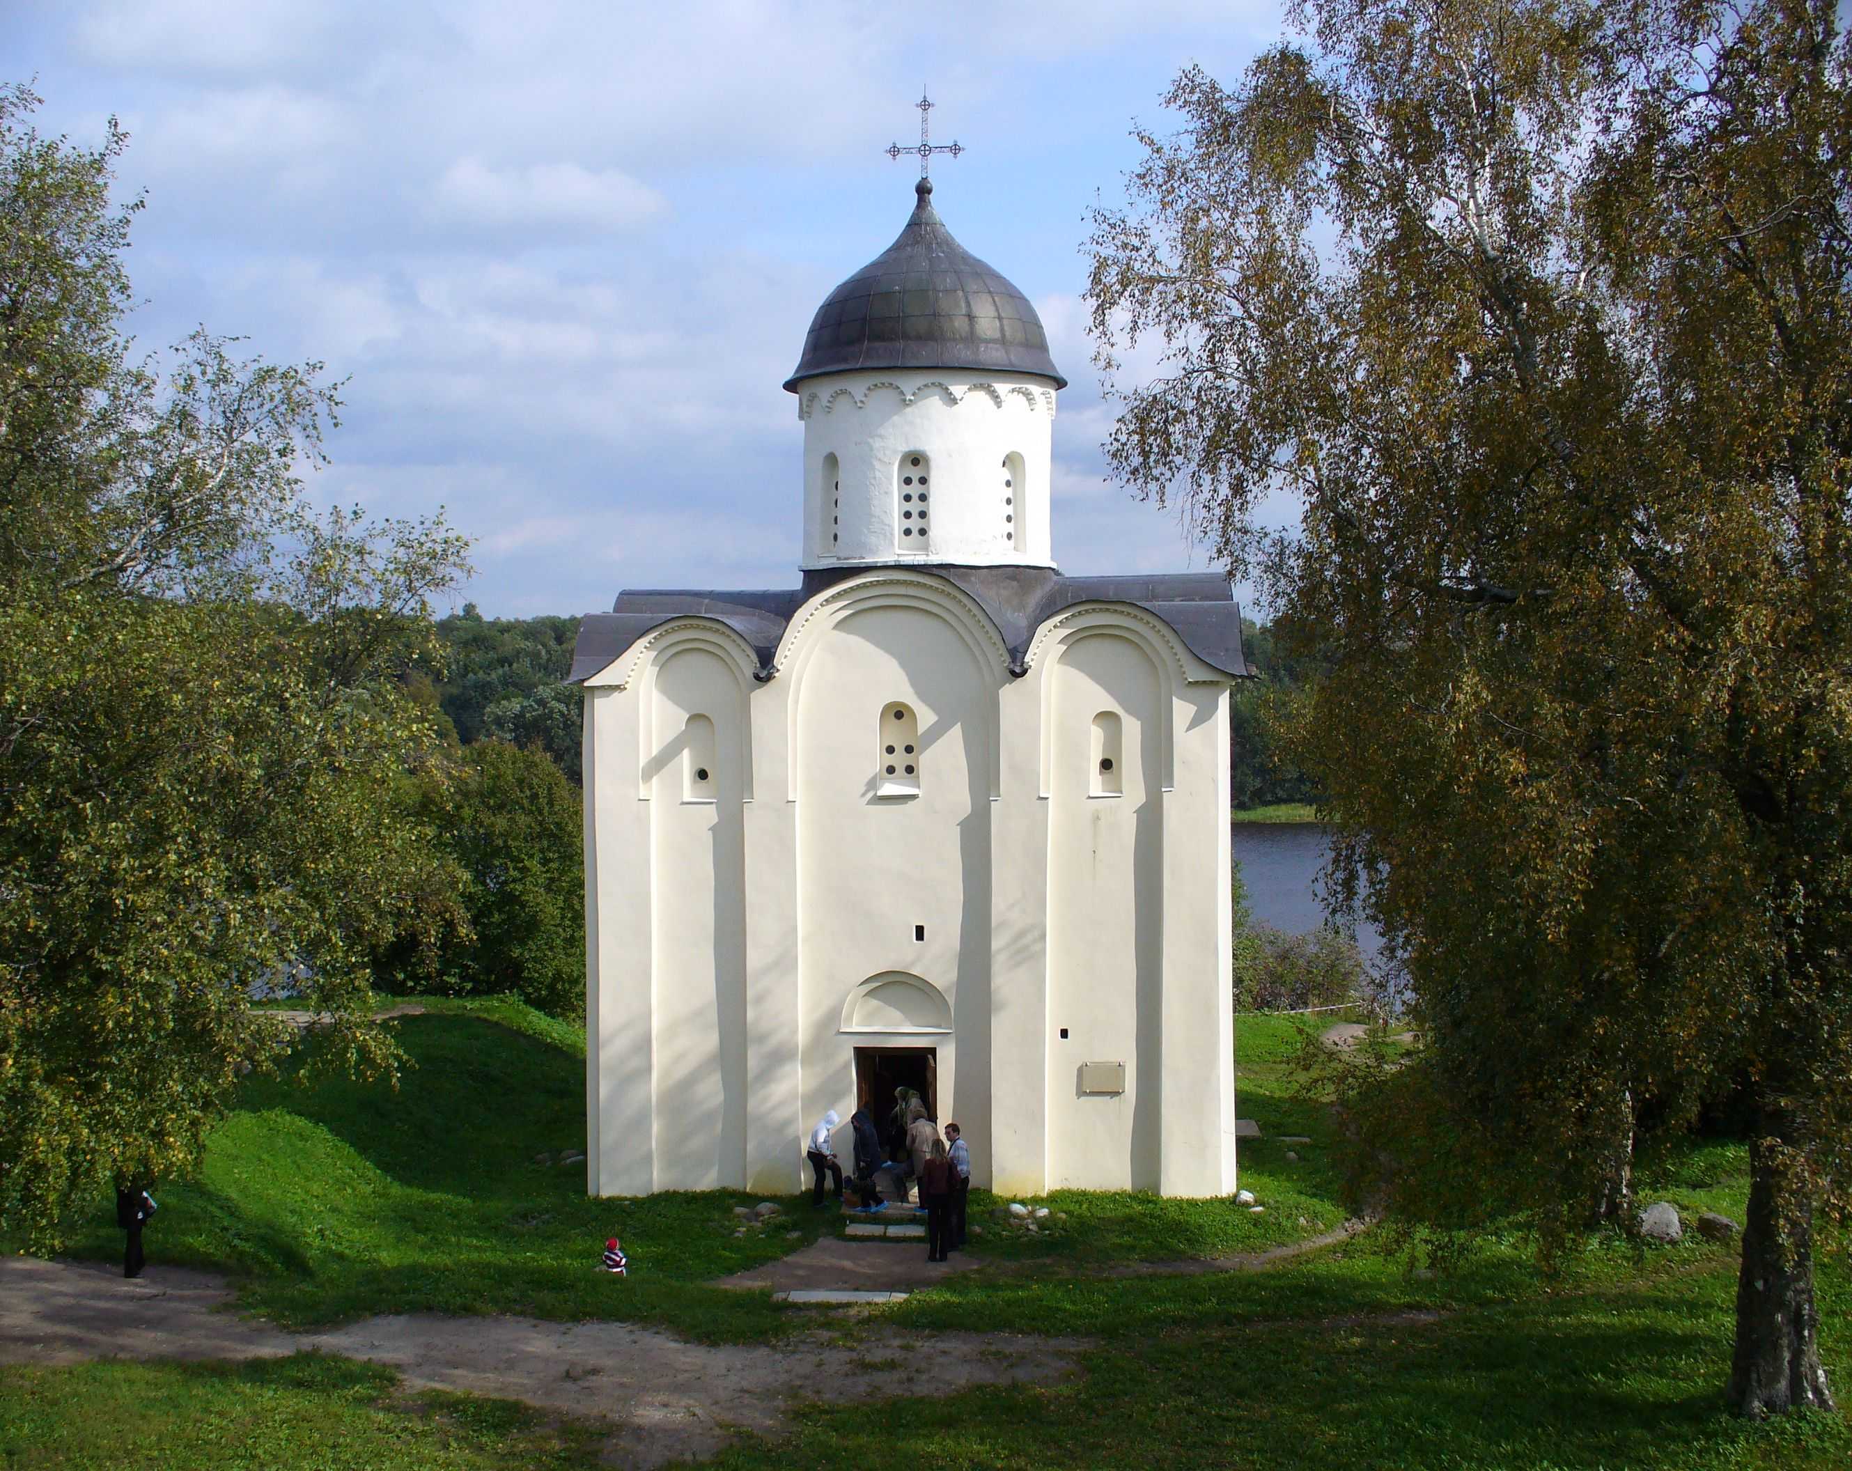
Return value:
M 1748 1221 L 1737 1278 L 1730 1408 L 1761 1419 L 1832 1410 L 1813 1304 L 1813 1199 L 1772 1141 L 1750 1145 Z

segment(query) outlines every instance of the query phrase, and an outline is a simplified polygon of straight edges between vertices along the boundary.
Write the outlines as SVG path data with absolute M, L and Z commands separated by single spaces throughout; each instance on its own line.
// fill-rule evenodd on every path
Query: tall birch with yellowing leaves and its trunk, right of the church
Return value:
M 1133 209 L 1098 219 L 1102 363 L 1167 348 L 1109 456 L 1319 630 L 1285 745 L 1408 965 L 1413 1117 L 1565 1251 L 1739 1089 L 1733 1401 L 1824 1404 L 1813 1215 L 1852 1210 L 1837 7 L 1300 20 L 1233 87 L 1182 74 L 1183 132 L 1141 135 Z M 1282 491 L 1295 535 L 1265 528 Z

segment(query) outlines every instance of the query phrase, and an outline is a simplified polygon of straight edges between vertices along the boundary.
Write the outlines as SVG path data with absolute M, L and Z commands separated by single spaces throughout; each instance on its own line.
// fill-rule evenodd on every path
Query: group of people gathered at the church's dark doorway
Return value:
M 841 1123 L 837 1112 L 828 1110 L 806 1143 L 815 1176 L 813 1206 L 822 1206 L 826 1180 L 832 1182 L 830 1195 L 845 1195 L 843 1165 L 835 1156 L 835 1130 Z M 945 1134 L 939 1134 L 926 1100 L 911 1088 L 895 1089 L 895 1106 L 883 1123 L 885 1128 L 878 1126 L 867 1108 L 850 1115 L 854 1173 L 846 1188 L 869 1212 L 885 1210 L 889 1197 L 896 1204 L 907 1204 L 917 1191 L 919 1204 L 926 1208 L 926 1260 L 945 1262 L 946 1252 L 965 1245 L 970 1149 L 956 1123 L 948 1123 Z

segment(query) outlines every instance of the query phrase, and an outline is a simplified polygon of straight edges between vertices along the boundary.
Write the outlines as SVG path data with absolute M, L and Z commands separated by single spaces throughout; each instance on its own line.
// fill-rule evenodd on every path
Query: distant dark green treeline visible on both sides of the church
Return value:
M 459 745 L 483 737 L 546 752 L 561 774 L 580 782 L 580 691 L 565 682 L 576 617 L 485 619 L 474 602 L 439 619 L 448 665 L 428 691 Z M 1232 795 L 1237 808 L 1315 802 L 1319 793 L 1287 763 L 1270 734 L 1269 702 L 1291 695 L 1309 663 L 1282 652 L 1270 624 L 1243 621 L 1248 667 L 1259 678 L 1235 689 L 1230 708 Z

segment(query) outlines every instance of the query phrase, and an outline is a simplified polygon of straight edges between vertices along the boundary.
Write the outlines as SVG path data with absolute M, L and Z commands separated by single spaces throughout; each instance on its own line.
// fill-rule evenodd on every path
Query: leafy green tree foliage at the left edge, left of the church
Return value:
M 402 800 L 404 680 L 463 569 L 439 521 L 313 513 L 317 365 L 196 333 L 128 367 L 122 146 L 0 93 L 0 1225 L 56 1239 L 113 1180 L 191 1169 L 294 974 L 380 1069 L 372 949 L 456 874 Z

